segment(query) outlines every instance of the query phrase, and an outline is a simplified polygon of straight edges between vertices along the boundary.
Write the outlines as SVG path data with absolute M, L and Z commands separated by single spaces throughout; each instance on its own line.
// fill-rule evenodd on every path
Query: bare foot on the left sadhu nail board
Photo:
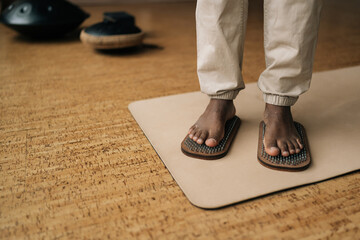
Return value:
M 232 100 L 211 99 L 205 112 L 189 129 L 189 137 L 198 144 L 215 147 L 225 133 L 225 123 L 235 116 Z

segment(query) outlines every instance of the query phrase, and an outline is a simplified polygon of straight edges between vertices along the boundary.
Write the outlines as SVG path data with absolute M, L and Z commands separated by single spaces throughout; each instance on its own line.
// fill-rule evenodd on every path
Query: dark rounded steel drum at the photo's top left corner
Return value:
M 0 21 L 31 37 L 58 37 L 76 29 L 90 15 L 65 0 L 18 0 Z

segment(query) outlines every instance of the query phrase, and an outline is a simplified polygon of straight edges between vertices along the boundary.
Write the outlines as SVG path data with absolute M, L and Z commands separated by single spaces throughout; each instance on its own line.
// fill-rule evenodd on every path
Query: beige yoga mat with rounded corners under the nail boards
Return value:
M 310 90 L 293 108 L 307 131 L 311 166 L 282 172 L 257 161 L 264 103 L 256 83 L 235 101 L 242 124 L 227 156 L 200 160 L 180 149 L 188 128 L 208 103 L 200 92 L 133 102 L 129 109 L 191 203 L 218 208 L 360 169 L 360 66 L 313 74 Z

